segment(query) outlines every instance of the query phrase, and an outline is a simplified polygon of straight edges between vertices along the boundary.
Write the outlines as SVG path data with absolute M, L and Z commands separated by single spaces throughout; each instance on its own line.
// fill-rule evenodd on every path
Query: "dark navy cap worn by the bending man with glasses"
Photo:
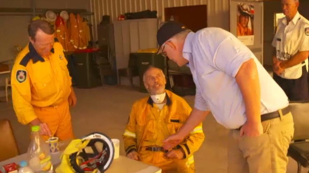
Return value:
M 157 31 L 157 42 L 159 44 L 159 50 L 164 42 L 186 29 L 187 28 L 184 26 L 184 24 L 179 22 L 169 21 L 164 23 Z

